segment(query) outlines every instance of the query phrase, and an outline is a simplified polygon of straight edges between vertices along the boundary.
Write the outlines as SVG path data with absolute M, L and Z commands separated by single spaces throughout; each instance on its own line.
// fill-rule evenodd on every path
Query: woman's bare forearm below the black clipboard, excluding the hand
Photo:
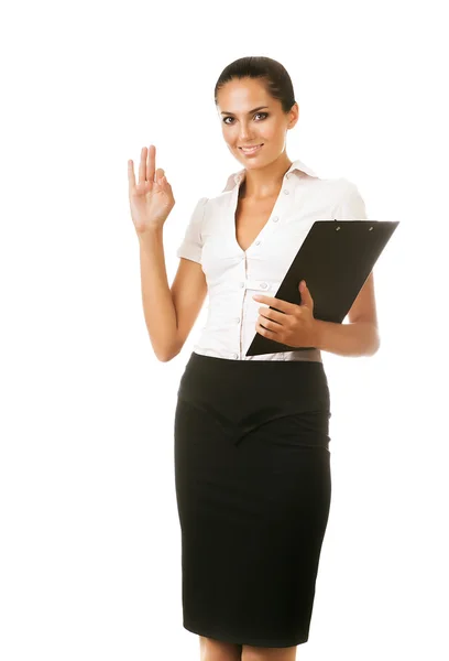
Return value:
M 316 344 L 318 349 L 340 356 L 372 356 L 380 347 L 377 328 L 366 322 L 352 324 L 335 324 L 333 322 L 316 322 Z

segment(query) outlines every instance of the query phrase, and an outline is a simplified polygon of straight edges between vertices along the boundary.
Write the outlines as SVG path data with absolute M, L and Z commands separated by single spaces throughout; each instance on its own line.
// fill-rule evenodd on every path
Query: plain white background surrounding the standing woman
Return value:
M 448 658 L 448 129 L 443 2 L 21 3 L 1 26 L 0 657 L 199 659 L 182 627 L 173 418 L 128 159 L 155 144 L 177 246 L 241 169 L 213 104 L 267 55 L 300 117 L 287 154 L 401 220 L 374 269 L 381 350 L 324 354 L 332 502 L 298 659 Z M 446 52 L 445 52 L 446 51 Z

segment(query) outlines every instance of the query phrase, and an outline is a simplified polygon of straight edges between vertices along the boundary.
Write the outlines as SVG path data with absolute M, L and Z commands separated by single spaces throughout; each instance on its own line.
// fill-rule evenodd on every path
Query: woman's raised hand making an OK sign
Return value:
M 135 183 L 134 164 L 128 161 L 128 183 L 131 217 L 138 235 L 162 228 L 168 214 L 175 206 L 172 186 L 168 184 L 164 170 L 155 169 L 156 148 L 142 148 L 139 166 L 139 182 Z

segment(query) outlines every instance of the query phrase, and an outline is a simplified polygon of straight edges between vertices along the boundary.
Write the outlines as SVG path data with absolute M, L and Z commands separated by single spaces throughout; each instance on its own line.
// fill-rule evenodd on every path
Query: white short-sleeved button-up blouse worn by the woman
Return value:
M 253 295 L 275 296 L 296 252 L 316 220 L 366 220 L 357 186 L 346 178 L 320 178 L 300 161 L 285 173 L 267 223 L 244 251 L 236 238 L 239 187 L 245 170 L 231 174 L 217 197 L 201 197 L 176 251 L 201 264 L 209 306 L 206 325 L 194 345 L 205 356 L 234 360 L 315 360 L 317 348 L 245 356 L 259 307 Z

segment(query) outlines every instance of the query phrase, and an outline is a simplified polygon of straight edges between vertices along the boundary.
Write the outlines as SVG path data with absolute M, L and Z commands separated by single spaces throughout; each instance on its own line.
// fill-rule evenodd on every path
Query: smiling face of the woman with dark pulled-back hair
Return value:
M 297 104 L 286 115 L 281 101 L 253 78 L 230 80 L 219 90 L 217 101 L 225 141 L 245 169 L 263 167 L 283 153 L 286 132 L 297 121 Z M 260 144 L 263 147 L 253 153 L 241 149 Z

